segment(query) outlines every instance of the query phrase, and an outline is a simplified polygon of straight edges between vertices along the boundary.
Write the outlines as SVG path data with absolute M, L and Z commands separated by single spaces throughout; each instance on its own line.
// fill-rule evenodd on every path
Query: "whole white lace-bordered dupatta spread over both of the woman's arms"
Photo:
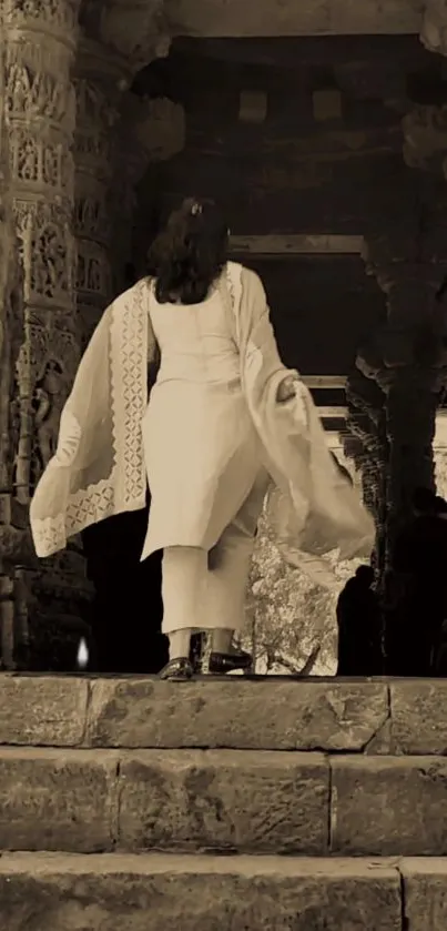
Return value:
M 289 373 L 271 338 L 261 282 L 255 279 L 257 291 L 247 300 L 243 272 L 230 262 L 221 291 L 241 354 L 250 412 L 274 482 L 268 520 L 284 558 L 311 574 L 314 563 L 318 574 L 319 557 L 336 548 L 344 558 L 369 555 L 374 523 L 339 476 L 312 396 L 296 372 L 295 398 L 278 405 L 278 384 Z M 145 505 L 141 424 L 148 363 L 156 353 L 149 293 L 144 279 L 121 294 L 103 314 L 81 360 L 62 412 L 57 453 L 31 502 L 31 533 L 40 557 L 63 549 L 69 537 L 91 524 Z M 329 566 L 327 570 L 332 573 Z

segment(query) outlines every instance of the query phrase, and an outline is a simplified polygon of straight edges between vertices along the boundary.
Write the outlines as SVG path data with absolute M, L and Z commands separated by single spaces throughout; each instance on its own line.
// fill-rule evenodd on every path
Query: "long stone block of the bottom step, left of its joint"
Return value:
M 0 914 L 8 931 L 402 929 L 397 870 L 275 857 L 7 854 Z

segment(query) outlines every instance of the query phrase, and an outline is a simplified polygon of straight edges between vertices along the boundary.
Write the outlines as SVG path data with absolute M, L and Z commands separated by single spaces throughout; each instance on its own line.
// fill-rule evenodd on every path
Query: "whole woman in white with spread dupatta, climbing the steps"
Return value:
M 172 213 L 151 251 L 151 277 L 109 307 L 92 337 L 31 506 L 38 555 L 49 555 L 85 522 L 142 506 L 146 474 L 142 559 L 164 550 L 170 661 L 161 675 L 170 679 L 192 677 L 197 630 L 212 631 L 210 671 L 251 665 L 232 641 L 272 478 L 283 551 L 298 538 L 308 553 L 343 539 L 355 551 L 372 544 L 372 523 L 331 461 L 309 395 L 281 362 L 262 283 L 228 262 L 227 250 L 212 202 L 190 199 Z

